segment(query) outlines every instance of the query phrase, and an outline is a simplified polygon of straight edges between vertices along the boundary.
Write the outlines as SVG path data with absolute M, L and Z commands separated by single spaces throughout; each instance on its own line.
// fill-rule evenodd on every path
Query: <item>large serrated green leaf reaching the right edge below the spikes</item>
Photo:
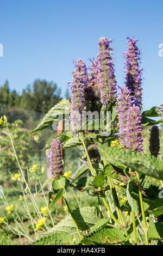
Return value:
M 134 171 L 163 180 L 163 162 L 157 160 L 154 156 L 131 150 L 126 151 L 124 149 L 110 148 L 98 142 L 96 144 L 99 152 L 108 162 L 112 160 L 118 161 Z

